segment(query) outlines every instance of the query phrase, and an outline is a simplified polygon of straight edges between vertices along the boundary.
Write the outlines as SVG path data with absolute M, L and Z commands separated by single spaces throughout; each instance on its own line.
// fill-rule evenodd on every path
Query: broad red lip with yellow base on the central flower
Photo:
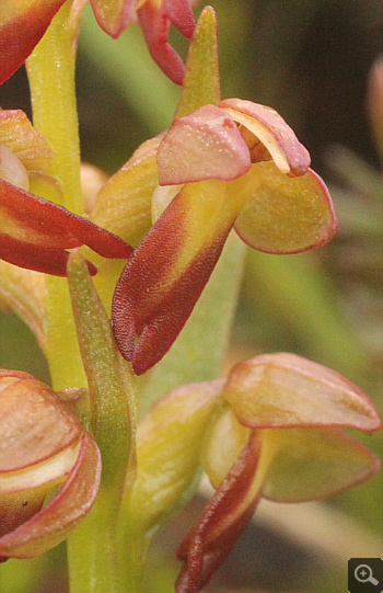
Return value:
M 123 271 L 112 320 L 138 375 L 171 347 L 210 277 L 236 216 L 224 192 L 221 181 L 184 185 Z

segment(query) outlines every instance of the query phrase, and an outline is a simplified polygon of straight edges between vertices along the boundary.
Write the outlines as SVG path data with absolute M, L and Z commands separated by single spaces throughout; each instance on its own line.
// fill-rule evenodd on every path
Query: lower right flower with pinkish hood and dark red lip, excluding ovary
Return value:
M 378 412 L 364 394 L 328 368 L 292 354 L 258 356 L 232 369 L 222 397 L 225 407 L 204 453 L 217 492 L 178 549 L 184 568 L 177 593 L 204 588 L 262 497 L 320 500 L 379 469 L 378 458 L 340 430 L 376 431 Z

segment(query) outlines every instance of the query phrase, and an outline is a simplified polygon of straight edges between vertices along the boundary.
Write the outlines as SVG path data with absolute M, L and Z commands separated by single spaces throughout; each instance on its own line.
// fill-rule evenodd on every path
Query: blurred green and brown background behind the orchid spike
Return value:
M 382 410 L 383 178 L 365 95 L 370 68 L 383 52 L 383 4 L 217 0 L 213 8 L 222 96 L 268 104 L 287 119 L 330 186 L 339 217 L 336 238 L 315 252 L 248 252 L 229 357 L 275 351 L 305 355 L 347 375 Z M 185 55 L 187 45 L 173 31 L 172 43 Z M 114 42 L 91 11 L 84 15 L 77 84 L 82 159 L 107 173 L 169 126 L 178 96 L 151 61 L 137 27 Z M 0 88 L 0 104 L 31 113 L 23 70 Z M 9 312 L 0 313 L 0 367 L 49 380 L 33 335 Z M 380 435 L 362 440 L 382 456 Z M 352 544 L 360 556 L 383 555 L 382 494 L 380 475 L 320 508 L 300 505 L 303 514 L 292 516 L 301 535 L 283 516 L 272 520 L 272 512 L 259 509 L 260 520 L 207 591 L 347 591 Z M 174 549 L 201 501 L 162 534 L 144 584 L 148 593 L 173 590 Z M 7 562 L 1 593 L 63 593 L 63 555 L 61 546 L 33 562 Z

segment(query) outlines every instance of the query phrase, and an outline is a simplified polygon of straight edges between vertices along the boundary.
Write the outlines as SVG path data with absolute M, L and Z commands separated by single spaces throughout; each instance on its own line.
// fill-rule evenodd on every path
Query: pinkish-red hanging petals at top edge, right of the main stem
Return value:
M 148 49 L 155 64 L 175 84 L 182 84 L 185 67 L 169 43 L 171 23 L 187 37 L 193 35 L 194 19 L 187 0 L 163 0 L 161 7 L 147 0 L 137 11 Z

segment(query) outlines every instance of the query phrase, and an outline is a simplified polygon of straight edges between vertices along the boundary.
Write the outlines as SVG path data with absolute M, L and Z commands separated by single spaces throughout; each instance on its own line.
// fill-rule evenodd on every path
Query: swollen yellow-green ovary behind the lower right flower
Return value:
M 222 386 L 218 379 L 174 389 L 140 423 L 137 477 L 123 513 L 130 535 L 155 532 L 194 494 L 204 437 Z

